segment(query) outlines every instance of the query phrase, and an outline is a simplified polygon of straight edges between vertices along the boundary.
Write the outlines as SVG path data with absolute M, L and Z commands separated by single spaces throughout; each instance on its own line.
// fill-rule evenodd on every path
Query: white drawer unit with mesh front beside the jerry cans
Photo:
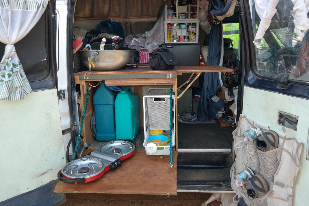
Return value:
M 169 155 L 169 143 L 157 150 L 147 146 L 151 130 L 162 130 L 163 135 L 170 136 L 170 89 L 149 88 L 143 97 L 144 134 L 143 146 L 148 155 Z M 175 146 L 175 95 L 172 93 L 172 145 Z

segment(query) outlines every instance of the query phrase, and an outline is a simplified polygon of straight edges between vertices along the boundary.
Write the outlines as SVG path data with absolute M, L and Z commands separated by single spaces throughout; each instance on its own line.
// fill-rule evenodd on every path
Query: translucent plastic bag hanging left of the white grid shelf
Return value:
M 155 26 L 143 36 L 146 37 L 144 48 L 148 51 L 158 49 L 159 45 L 164 43 L 164 12 Z

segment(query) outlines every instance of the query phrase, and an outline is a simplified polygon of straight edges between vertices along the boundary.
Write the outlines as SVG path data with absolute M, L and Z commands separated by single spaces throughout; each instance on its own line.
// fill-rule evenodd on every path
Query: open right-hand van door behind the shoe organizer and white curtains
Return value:
M 268 198 L 268 205 L 306 205 L 308 204 L 307 185 L 309 182 L 307 146 L 309 65 L 306 60 L 309 52 L 309 33 L 307 32 L 303 38 L 296 38 L 298 35 L 294 28 L 300 23 L 295 21 L 296 18 L 300 18 L 298 20 L 302 22 L 308 22 L 307 12 L 304 16 L 297 17 L 294 13 L 296 6 L 292 3 L 295 1 L 279 1 L 277 6 L 275 5 L 277 11 L 270 25 L 267 26 L 262 25 L 264 11 L 258 10 L 262 5 L 256 5 L 254 2 L 256 1 L 250 0 L 239 3 L 239 13 L 243 14 L 240 18 L 243 33 L 241 56 L 244 72 L 242 74 L 243 93 L 242 95 L 239 93 L 239 99 L 242 97 L 243 102 L 238 107 L 242 110 L 242 114 L 255 122 L 255 126 L 264 125 L 267 130 L 278 133 L 283 137 L 282 139 L 290 137 L 301 142 L 294 150 L 296 154 L 293 156 L 294 161 L 291 164 L 280 165 L 281 169 L 282 167 L 290 169 L 285 179 L 292 181 L 286 183 L 278 181 L 280 168 L 278 169 L 277 163 L 270 161 L 266 164 L 268 168 L 264 168 L 264 171 L 275 171 L 272 176 L 273 182 L 270 181 L 269 185 L 269 190 L 274 192 L 272 195 L 278 195 L 275 188 L 276 190 L 281 188 L 281 194 L 285 194 L 282 197 L 284 199 L 282 199 L 282 204 L 276 202 L 281 201 L 280 198 L 266 198 Z M 303 6 L 306 7 L 306 5 Z M 260 35 L 263 29 L 266 32 L 262 33 L 262 37 L 259 38 L 258 34 Z M 295 39 L 298 39 L 298 42 Z M 306 64 L 302 63 L 304 58 Z M 284 149 L 282 151 L 284 154 Z M 278 157 L 282 160 L 282 153 Z M 301 164 L 299 164 L 298 157 L 300 157 Z M 264 178 L 267 179 L 267 177 Z M 284 188 L 294 191 L 293 193 L 289 191 L 289 194 Z M 272 201 L 275 202 L 269 204 Z

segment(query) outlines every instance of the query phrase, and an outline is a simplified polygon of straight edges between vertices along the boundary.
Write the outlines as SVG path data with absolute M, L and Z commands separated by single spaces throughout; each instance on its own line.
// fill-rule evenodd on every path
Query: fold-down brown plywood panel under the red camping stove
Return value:
M 173 151 L 173 158 L 171 171 L 169 156 L 160 158 L 136 149 L 119 168 L 106 172 L 101 178 L 84 184 L 59 181 L 54 192 L 177 195 L 176 151 Z

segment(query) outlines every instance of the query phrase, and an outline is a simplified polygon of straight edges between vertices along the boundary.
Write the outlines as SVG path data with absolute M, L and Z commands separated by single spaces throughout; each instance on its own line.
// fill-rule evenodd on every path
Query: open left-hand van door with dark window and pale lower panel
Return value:
M 57 71 L 66 70 L 66 62 L 59 62 L 56 39 L 61 15 L 56 12 L 55 0 L 46 2 L 38 23 L 15 44 L 32 92 L 22 100 L 0 101 L 0 205 L 57 205 L 65 201 L 65 195 L 53 189 L 57 172 L 66 164 L 62 136 L 66 128 L 61 129 L 61 121 L 67 125 L 72 122 L 68 109 L 59 112 L 59 104 L 68 104 L 68 98 L 63 97 L 70 94 L 62 91 L 58 95 Z M 66 15 L 67 6 L 62 18 Z M 4 47 L 1 43 L 1 57 Z M 67 89 L 63 84 L 61 87 Z M 62 99 L 59 102 L 58 97 Z

